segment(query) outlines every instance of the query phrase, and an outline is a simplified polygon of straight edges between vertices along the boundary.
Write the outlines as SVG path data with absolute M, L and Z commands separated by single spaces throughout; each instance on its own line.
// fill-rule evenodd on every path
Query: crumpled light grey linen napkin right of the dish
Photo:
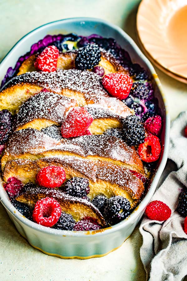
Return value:
M 172 214 L 164 222 L 148 219 L 144 215 L 139 229 L 143 237 L 140 257 L 150 281 L 181 281 L 187 275 L 184 218 L 175 211 L 181 191 L 187 188 L 186 125 L 187 111 L 180 113 L 171 123 L 168 161 L 151 199 L 166 203 Z

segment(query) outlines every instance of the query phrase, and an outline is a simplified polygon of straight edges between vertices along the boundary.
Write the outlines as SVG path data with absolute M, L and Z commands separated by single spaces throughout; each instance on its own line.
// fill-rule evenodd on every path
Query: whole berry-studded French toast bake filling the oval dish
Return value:
M 2 174 L 37 224 L 97 230 L 146 192 L 161 116 L 146 71 L 113 39 L 72 36 L 36 43 L 2 81 Z

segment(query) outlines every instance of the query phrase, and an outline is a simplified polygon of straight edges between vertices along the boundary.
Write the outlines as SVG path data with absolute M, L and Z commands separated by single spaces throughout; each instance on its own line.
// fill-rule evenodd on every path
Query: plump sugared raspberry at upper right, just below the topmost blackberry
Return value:
M 130 93 L 132 79 L 124 73 L 110 73 L 103 77 L 102 84 L 111 96 L 123 100 Z

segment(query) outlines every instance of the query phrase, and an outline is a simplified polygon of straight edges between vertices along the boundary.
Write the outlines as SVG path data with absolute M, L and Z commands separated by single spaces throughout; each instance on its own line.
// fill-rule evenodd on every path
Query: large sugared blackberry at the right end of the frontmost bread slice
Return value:
M 122 196 L 112 196 L 104 208 L 104 217 L 108 224 L 114 225 L 129 216 L 130 202 Z

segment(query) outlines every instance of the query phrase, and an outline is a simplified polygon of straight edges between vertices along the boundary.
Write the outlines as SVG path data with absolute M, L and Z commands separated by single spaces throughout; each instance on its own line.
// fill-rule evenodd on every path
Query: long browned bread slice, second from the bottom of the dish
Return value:
M 8 161 L 4 170 L 4 180 L 14 176 L 23 184 L 28 181 L 35 183 L 36 174 L 46 166 L 61 166 L 65 170 L 66 180 L 78 176 L 89 180 L 89 198 L 104 194 L 108 198 L 121 195 L 127 198 L 134 207 L 144 191 L 143 183 L 129 170 L 117 165 L 81 159 L 73 156 L 41 158 L 31 160 Z

